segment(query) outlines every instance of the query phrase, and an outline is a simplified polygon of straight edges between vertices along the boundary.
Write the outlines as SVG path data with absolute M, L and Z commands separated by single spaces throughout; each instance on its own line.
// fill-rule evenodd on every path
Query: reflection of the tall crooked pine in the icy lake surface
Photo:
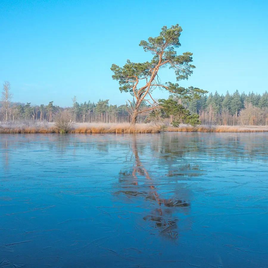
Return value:
M 190 203 L 177 195 L 165 197 L 166 194 L 155 186 L 155 179 L 149 175 L 149 171 L 139 158 L 135 136 L 132 151 L 134 155 L 132 170 L 119 173 L 122 190 L 117 191 L 116 194 L 124 194 L 129 198 L 141 197 L 143 200 L 149 201 L 150 204 L 147 204 L 147 208 L 154 208 L 143 217 L 144 221 L 149 222 L 151 228 L 158 229 L 161 235 L 176 238 L 179 229 L 177 223 L 180 221 L 177 215 L 178 210 L 180 213 L 187 213 L 185 208 L 189 207 Z M 170 176 L 170 171 L 167 176 Z

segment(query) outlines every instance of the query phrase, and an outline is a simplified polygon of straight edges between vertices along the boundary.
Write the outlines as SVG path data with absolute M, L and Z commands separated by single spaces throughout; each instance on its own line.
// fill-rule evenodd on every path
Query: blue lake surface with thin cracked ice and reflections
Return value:
M 268 267 L 267 133 L 1 135 L 0 267 Z

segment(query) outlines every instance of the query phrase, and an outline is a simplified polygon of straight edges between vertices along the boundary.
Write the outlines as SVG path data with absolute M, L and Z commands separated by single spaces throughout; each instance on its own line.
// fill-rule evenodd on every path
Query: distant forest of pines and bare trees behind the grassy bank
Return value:
M 78 123 L 124 123 L 130 121 L 126 105 L 109 105 L 109 100 L 99 100 L 97 103 L 77 102 L 75 96 L 72 107 L 59 107 L 53 101 L 47 105 L 32 105 L 31 103 L 12 102 L 12 95 L 8 90 L 2 92 L 0 105 L 0 120 L 2 122 L 13 121 L 47 121 L 52 122 L 54 116 L 60 111 L 72 114 L 73 121 Z M 219 95 L 217 91 L 209 95 L 203 95 L 201 99 L 186 101 L 176 99 L 191 113 L 199 114 L 199 120 L 204 125 L 267 125 L 268 120 L 268 93 L 255 94 L 253 92 L 239 94 L 236 90 L 233 94 Z M 144 101 L 140 107 L 150 107 Z M 138 122 L 149 122 L 149 113 L 141 113 Z

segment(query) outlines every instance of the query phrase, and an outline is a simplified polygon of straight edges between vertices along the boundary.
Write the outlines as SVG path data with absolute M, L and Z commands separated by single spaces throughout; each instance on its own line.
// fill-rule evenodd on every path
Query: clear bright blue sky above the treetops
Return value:
M 110 99 L 123 104 L 110 66 L 150 58 L 138 46 L 163 25 L 182 29 L 178 49 L 196 69 L 180 85 L 222 94 L 268 90 L 268 1 L 1 0 L 0 82 L 13 101 L 69 106 Z M 162 82 L 175 82 L 172 70 Z M 155 92 L 155 98 L 168 94 Z

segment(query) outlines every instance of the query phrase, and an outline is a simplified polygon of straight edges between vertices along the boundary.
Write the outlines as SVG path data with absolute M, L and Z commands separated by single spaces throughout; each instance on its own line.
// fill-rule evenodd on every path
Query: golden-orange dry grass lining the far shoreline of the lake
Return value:
M 268 132 L 268 126 L 197 126 L 181 125 L 179 127 L 169 126 L 165 129 L 167 132 Z M 150 124 L 74 124 L 69 133 L 160 133 L 161 127 Z M 17 133 L 59 133 L 59 130 L 53 125 L 33 126 L 33 127 L 12 127 L 0 126 L 0 134 Z

